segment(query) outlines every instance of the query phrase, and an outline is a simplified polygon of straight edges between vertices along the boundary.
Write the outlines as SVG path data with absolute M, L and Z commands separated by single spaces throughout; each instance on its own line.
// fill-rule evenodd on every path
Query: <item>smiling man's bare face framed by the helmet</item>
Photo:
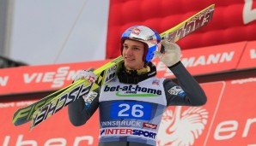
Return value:
M 123 44 L 123 56 L 125 67 L 131 69 L 142 69 L 144 66 L 143 61 L 144 44 L 131 39 L 125 39 Z

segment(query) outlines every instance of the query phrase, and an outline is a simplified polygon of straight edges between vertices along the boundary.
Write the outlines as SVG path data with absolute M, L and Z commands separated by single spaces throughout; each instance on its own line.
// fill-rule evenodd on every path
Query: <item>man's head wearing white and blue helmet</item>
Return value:
M 147 26 L 131 26 L 121 37 L 125 65 L 132 69 L 141 69 L 145 62 L 155 58 L 154 51 L 160 48 L 160 42 L 159 34 L 153 29 Z

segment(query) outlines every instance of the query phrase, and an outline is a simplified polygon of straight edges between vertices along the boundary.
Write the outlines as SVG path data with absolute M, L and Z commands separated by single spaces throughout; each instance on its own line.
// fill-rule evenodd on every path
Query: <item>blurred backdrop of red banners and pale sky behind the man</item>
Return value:
M 215 10 L 211 19 L 205 17 L 208 24 L 177 42 L 182 63 L 208 102 L 168 107 L 156 141 L 255 146 L 255 0 L 1 0 L 0 145 L 97 145 L 98 111 L 85 126 L 74 127 L 64 108 L 33 131 L 29 122 L 14 126 L 13 114 L 70 85 L 79 70 L 119 56 L 119 38 L 129 26 L 165 32 L 211 4 Z M 153 63 L 157 77 L 176 82 L 161 61 Z

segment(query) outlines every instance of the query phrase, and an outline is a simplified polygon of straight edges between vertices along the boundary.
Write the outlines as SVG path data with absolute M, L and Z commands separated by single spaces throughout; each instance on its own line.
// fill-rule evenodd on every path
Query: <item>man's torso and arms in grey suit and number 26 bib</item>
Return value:
M 71 123 L 82 126 L 99 108 L 99 146 L 156 145 L 162 113 L 167 106 L 200 106 L 206 102 L 204 91 L 181 62 L 169 69 L 179 85 L 155 76 L 137 84 L 113 79 L 94 92 L 92 102 L 80 98 L 69 105 Z

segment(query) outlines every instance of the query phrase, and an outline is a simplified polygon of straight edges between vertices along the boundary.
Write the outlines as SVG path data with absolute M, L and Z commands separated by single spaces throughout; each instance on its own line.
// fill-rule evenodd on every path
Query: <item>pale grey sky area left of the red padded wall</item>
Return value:
M 1 0 L 0 55 L 27 65 L 105 59 L 109 1 Z

